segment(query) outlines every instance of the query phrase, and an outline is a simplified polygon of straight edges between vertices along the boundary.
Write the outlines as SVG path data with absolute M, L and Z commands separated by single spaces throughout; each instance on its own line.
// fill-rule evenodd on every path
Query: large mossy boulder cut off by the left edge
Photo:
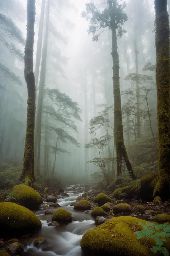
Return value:
M 0 203 L 1 237 L 24 235 L 41 228 L 41 221 L 27 208 L 16 203 Z

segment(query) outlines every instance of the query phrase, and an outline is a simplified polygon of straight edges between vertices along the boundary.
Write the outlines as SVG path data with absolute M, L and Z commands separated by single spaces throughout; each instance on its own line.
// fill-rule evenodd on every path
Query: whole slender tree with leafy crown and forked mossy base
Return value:
M 100 28 L 108 27 L 112 32 L 112 60 L 113 60 L 113 92 L 114 92 L 114 137 L 117 154 L 117 175 L 122 174 L 122 165 L 125 163 L 129 175 L 135 179 L 135 175 L 129 161 L 127 151 L 124 145 L 123 122 L 121 112 L 121 93 L 120 93 L 120 77 L 119 77 L 119 55 L 117 46 L 117 36 L 121 37 L 126 32 L 122 25 L 127 21 L 128 17 L 124 12 L 125 3 L 119 4 L 117 0 L 108 0 L 106 8 L 101 12 L 96 8 L 93 2 L 86 4 L 86 12 L 82 13 L 82 17 L 89 18 L 91 14 L 89 33 L 92 33 L 93 40 L 98 40 L 100 34 L 96 32 Z M 118 31 L 118 33 L 117 33 Z

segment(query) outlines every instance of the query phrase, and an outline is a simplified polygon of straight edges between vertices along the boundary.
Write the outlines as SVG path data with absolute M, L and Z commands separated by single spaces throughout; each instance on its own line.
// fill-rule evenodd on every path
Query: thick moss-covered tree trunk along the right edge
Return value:
M 155 0 L 156 86 L 159 174 L 154 197 L 167 197 L 170 189 L 170 35 L 167 0 Z

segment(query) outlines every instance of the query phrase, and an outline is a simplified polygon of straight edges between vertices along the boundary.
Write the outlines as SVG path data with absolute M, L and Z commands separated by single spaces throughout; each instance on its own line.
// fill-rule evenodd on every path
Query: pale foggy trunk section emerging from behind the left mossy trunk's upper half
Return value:
M 37 52 L 36 52 L 36 66 L 35 66 L 35 80 L 36 80 L 36 90 L 38 87 L 38 76 L 39 67 L 41 60 L 41 48 L 42 48 L 42 37 L 43 37 L 43 24 L 44 24 L 44 11 L 45 11 L 45 0 L 41 2 L 41 14 L 39 19 L 39 29 L 38 29 L 38 41 L 37 41 Z

